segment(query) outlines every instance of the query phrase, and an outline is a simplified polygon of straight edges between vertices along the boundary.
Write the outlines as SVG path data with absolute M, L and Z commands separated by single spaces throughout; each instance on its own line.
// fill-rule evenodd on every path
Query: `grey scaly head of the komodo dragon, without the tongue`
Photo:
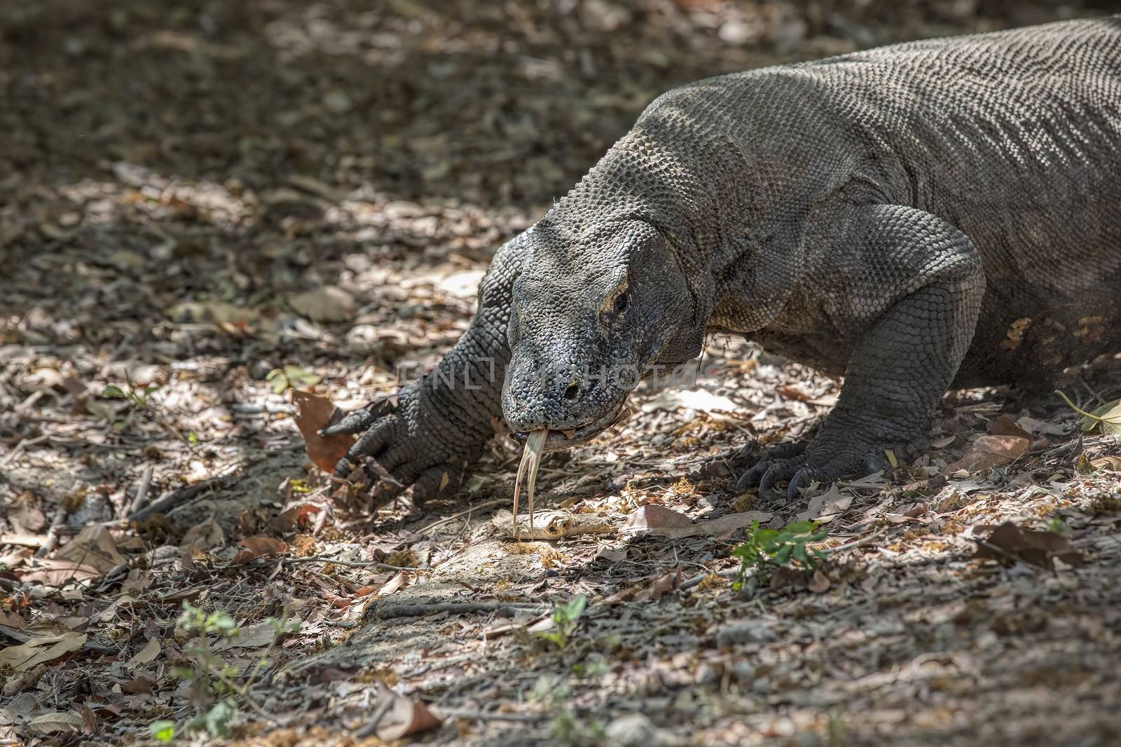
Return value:
M 654 363 L 700 350 L 693 296 L 669 239 L 652 223 L 552 221 L 528 237 L 513 284 L 507 426 L 547 428 L 547 450 L 582 443 L 619 417 Z

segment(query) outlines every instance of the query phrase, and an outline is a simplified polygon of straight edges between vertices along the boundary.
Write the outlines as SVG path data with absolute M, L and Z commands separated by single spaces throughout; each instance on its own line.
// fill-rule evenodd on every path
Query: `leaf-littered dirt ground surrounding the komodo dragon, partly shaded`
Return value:
M 714 338 L 546 458 L 577 529 L 521 542 L 512 443 L 373 506 L 293 400 L 433 366 L 675 84 L 1109 9 L 0 2 L 0 745 L 1121 744 L 1121 436 L 1055 395 L 952 393 L 898 469 L 766 504 L 734 477 L 839 382 Z M 818 572 L 733 588 L 744 525 L 796 517 Z

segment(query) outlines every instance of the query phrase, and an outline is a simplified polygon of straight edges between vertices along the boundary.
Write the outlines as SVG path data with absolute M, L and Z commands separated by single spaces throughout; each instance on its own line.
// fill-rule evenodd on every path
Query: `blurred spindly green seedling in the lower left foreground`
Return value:
M 183 614 L 179 615 L 176 627 L 187 635 L 194 636 L 192 639 L 194 645 L 183 649 L 192 666 L 176 667 L 174 672 L 176 675 L 189 680 L 191 689 L 198 695 L 200 701 L 212 703 L 210 708 L 200 709 L 187 721 L 187 731 L 205 730 L 213 737 L 228 738 L 229 725 L 238 716 L 239 703 L 249 706 L 258 716 L 267 720 L 274 720 L 257 704 L 250 690 L 257 676 L 269 664 L 269 655 L 280 639 L 288 633 L 295 633 L 299 629 L 299 620 L 290 619 L 285 612 L 279 619 L 269 618 L 265 624 L 274 628 L 272 643 L 266 654 L 248 670 L 248 673 L 242 672 L 219 656 L 210 643 L 212 636 L 220 639 L 234 638 L 239 633 L 237 621 L 224 610 L 206 612 L 189 602 L 183 602 Z M 154 736 L 155 726 L 152 725 Z M 174 735 L 174 726 L 172 734 Z

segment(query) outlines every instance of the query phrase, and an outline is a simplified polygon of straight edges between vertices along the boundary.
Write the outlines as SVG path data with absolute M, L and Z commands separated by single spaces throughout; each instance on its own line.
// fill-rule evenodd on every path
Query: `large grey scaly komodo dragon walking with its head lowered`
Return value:
M 337 474 L 372 457 L 423 499 L 499 418 L 584 442 L 637 385 L 611 372 L 721 330 L 844 376 L 813 442 L 739 482 L 793 498 L 878 468 L 947 387 L 1121 350 L 1119 288 L 1121 16 L 766 67 L 655 100 L 498 250 L 435 372 L 324 433 L 361 433 Z

